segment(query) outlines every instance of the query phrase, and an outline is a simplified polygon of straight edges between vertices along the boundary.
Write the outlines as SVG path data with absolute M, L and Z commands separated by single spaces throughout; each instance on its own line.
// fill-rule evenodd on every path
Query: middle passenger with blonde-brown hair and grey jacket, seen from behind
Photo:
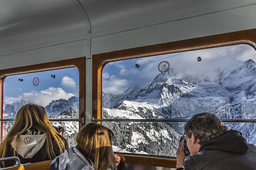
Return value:
M 66 149 L 50 164 L 50 169 L 58 170 L 107 170 L 117 169 L 120 157 L 112 152 L 113 132 L 98 123 L 85 125 L 78 133 L 76 147 Z

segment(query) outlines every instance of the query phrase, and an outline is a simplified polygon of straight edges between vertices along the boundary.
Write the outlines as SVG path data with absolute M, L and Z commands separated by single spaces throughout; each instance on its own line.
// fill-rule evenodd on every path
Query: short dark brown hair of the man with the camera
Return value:
M 203 142 L 207 142 L 227 131 L 228 127 L 224 126 L 216 115 L 211 113 L 198 113 L 193 115 L 191 120 L 188 120 L 184 130 L 188 138 L 191 138 L 193 134 L 201 145 Z

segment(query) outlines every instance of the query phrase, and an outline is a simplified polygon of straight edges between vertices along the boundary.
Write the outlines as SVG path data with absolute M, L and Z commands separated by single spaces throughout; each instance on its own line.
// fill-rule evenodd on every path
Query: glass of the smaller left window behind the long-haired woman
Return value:
M 79 130 L 79 71 L 77 67 L 53 69 L 44 72 L 16 74 L 3 81 L 3 119 L 13 120 L 21 106 L 35 103 L 43 106 L 51 123 L 62 126 L 63 136 L 70 146 L 75 146 Z M 56 120 L 56 121 L 54 121 Z M 57 121 L 58 120 L 58 121 Z M 14 121 L 2 122 L 6 137 Z

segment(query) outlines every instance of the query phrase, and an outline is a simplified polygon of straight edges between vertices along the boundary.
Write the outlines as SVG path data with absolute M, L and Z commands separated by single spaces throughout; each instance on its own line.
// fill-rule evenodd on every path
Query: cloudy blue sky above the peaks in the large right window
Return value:
M 202 58 L 201 62 L 197 61 L 198 57 Z M 122 94 L 128 88 L 150 84 L 160 73 L 158 64 L 161 61 L 169 62 L 177 77 L 191 75 L 215 79 L 218 70 L 233 69 L 241 64 L 240 61 L 256 61 L 255 58 L 255 49 L 244 44 L 109 62 L 102 71 L 102 91 Z M 135 64 L 139 64 L 139 68 Z

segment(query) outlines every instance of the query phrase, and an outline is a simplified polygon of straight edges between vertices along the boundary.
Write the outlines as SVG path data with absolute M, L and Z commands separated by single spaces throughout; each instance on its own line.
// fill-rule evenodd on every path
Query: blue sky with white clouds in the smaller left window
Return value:
M 55 78 L 51 75 L 55 75 Z M 33 84 L 36 77 L 39 80 L 37 86 Z M 30 103 L 46 106 L 53 100 L 78 96 L 78 81 L 79 72 L 76 67 L 9 76 L 4 80 L 4 104 L 23 98 Z

